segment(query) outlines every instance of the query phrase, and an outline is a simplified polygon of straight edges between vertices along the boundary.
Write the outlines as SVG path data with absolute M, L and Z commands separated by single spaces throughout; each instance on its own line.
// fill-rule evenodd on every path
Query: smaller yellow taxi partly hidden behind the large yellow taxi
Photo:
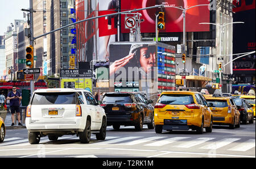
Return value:
M 207 96 L 208 105 L 213 115 L 213 124 L 229 125 L 230 129 L 240 127 L 240 112 L 230 97 Z

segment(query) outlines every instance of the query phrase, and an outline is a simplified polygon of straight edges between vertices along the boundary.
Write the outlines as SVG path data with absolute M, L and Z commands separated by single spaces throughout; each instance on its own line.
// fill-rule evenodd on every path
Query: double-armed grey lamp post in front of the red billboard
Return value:
M 186 37 L 185 37 L 185 27 L 186 27 L 186 11 L 189 9 L 192 9 L 193 7 L 199 7 L 199 6 L 210 6 L 210 4 L 201 4 L 201 5 L 195 5 L 195 6 L 191 6 L 191 7 L 176 7 L 176 6 L 164 6 L 164 7 L 172 7 L 172 8 L 176 8 L 179 10 L 182 10 L 182 15 L 183 15 L 183 48 L 182 48 L 182 52 L 186 54 Z M 183 72 L 186 71 L 186 64 L 184 63 L 184 70 Z M 184 79 L 184 87 L 186 87 L 186 79 Z

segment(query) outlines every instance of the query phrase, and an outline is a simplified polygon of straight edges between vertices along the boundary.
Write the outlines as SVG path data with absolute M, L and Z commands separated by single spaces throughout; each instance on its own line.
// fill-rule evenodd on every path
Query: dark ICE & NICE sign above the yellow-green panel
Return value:
M 60 69 L 61 78 L 90 78 L 92 69 Z

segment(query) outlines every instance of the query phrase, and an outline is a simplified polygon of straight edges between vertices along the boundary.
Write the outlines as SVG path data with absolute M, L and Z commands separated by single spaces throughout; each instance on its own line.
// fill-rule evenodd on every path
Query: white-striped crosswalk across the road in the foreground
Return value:
M 188 149 L 195 147 L 196 149 L 208 149 L 217 150 L 225 149 L 228 151 L 241 151 L 245 152 L 255 147 L 255 139 L 242 140 L 242 138 L 214 138 L 214 137 L 167 137 L 167 136 L 154 136 L 154 137 L 143 137 L 143 136 L 129 136 L 129 137 L 113 137 L 107 136 L 104 141 L 97 141 L 95 136 L 92 136 L 92 142 L 90 145 L 116 145 L 116 146 L 133 146 L 139 145 L 141 147 L 161 147 L 167 146 L 168 149 L 179 148 Z M 63 136 L 58 141 L 73 140 L 72 143 L 76 144 L 79 141 L 79 137 L 76 136 Z M 48 137 L 42 137 L 41 143 L 51 143 Z M 12 137 L 6 138 L 4 142 L 0 143 L 1 146 L 25 146 L 30 145 L 27 138 Z M 85 144 L 86 145 L 86 144 Z M 232 147 L 230 147 L 232 145 Z

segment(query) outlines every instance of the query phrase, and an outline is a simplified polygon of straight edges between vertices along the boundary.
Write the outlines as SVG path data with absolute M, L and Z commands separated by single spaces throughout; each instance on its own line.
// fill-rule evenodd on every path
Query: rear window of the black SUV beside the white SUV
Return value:
M 102 103 L 125 102 L 132 103 L 131 96 L 128 94 L 105 94 Z

